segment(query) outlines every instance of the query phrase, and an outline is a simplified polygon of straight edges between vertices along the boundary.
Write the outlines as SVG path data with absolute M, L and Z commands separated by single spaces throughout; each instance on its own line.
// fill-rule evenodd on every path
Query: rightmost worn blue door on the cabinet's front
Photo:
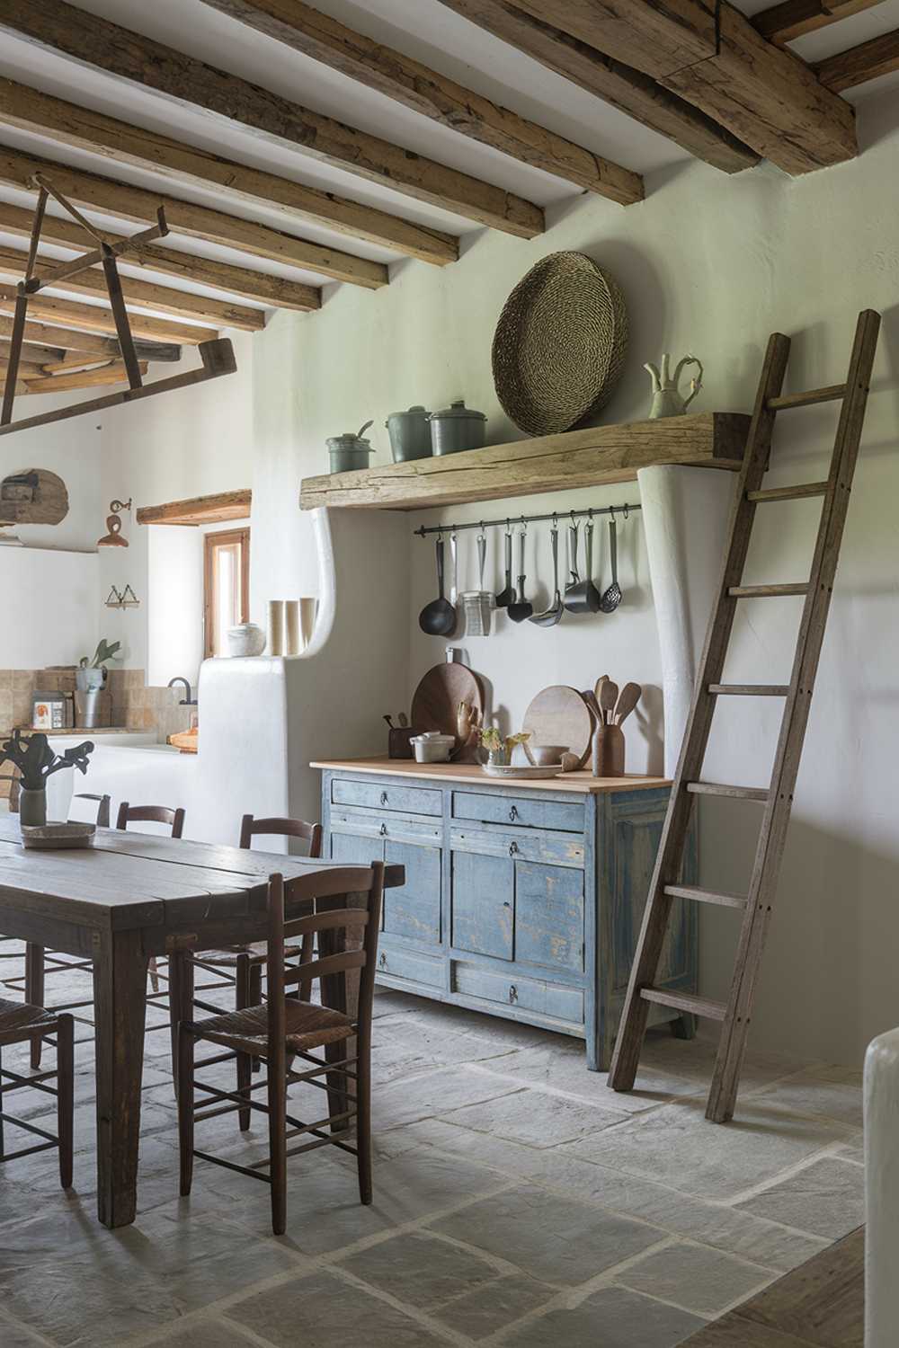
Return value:
M 584 969 L 584 872 L 519 861 L 515 868 L 515 958 Z

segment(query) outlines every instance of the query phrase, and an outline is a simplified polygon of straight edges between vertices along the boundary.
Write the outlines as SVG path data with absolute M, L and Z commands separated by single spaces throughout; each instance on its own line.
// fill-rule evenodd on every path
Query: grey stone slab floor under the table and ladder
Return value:
M 714 1127 L 705 1039 L 652 1033 L 620 1096 L 571 1039 L 390 992 L 376 1016 L 375 1202 L 350 1157 L 310 1153 L 280 1239 L 239 1174 L 197 1162 L 178 1197 L 164 1030 L 147 1037 L 139 1219 L 97 1225 L 81 1027 L 74 1190 L 51 1153 L 0 1167 L 1 1348 L 670 1348 L 863 1220 L 859 1073 L 749 1053 L 739 1117 Z M 311 1093 L 294 1111 L 319 1117 Z M 245 1162 L 263 1128 L 241 1139 L 225 1116 L 198 1146 Z

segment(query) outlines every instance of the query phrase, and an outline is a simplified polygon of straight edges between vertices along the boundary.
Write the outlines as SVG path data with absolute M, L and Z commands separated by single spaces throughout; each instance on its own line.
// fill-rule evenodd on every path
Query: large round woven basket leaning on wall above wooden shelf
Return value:
M 585 253 L 550 253 L 519 280 L 493 333 L 504 411 L 531 435 L 569 430 L 612 396 L 627 338 L 624 297 L 608 271 Z

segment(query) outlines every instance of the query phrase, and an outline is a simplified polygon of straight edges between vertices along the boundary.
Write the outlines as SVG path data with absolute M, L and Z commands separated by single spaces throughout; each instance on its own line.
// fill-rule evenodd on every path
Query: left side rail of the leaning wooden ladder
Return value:
M 731 512 L 731 542 L 721 566 L 718 590 L 706 630 L 690 714 L 681 744 L 652 880 L 643 910 L 636 953 L 621 1008 L 621 1020 L 608 1077 L 608 1084 L 613 1091 L 631 1091 L 636 1077 L 650 1014 L 650 1003 L 640 996 L 640 989 L 654 983 L 662 957 L 674 902 L 664 890 L 681 879 L 683 844 L 694 807 L 686 783 L 700 776 L 712 729 L 716 697 L 709 693 L 709 685 L 721 681 L 737 605 L 737 600 L 728 594 L 728 589 L 743 577 L 756 511 L 748 493 L 760 487 L 767 468 L 776 415 L 768 407 L 768 402 L 783 387 L 788 355 L 790 338 L 782 333 L 772 333 L 762 367 L 743 468 Z

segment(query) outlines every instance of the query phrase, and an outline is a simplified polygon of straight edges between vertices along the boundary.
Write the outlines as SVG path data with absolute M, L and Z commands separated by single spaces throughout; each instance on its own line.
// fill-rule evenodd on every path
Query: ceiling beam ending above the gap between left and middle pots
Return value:
M 298 239 L 282 229 L 272 229 L 270 225 L 260 225 L 241 216 L 230 216 L 224 210 L 179 201 L 167 193 L 148 191 L 146 187 L 135 187 L 128 182 L 116 182 L 113 178 L 88 173 L 85 168 L 73 168 L 53 159 L 24 154 L 11 146 L 0 146 L 0 182 L 30 191 L 36 173 L 50 178 L 70 201 L 86 210 L 102 210 L 119 220 L 146 224 L 155 218 L 156 206 L 163 206 L 173 235 L 205 239 L 252 257 L 283 262 L 368 290 L 385 286 L 390 279 L 384 263 L 356 257 L 353 253 L 309 239 Z

